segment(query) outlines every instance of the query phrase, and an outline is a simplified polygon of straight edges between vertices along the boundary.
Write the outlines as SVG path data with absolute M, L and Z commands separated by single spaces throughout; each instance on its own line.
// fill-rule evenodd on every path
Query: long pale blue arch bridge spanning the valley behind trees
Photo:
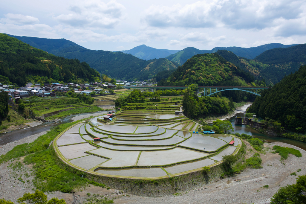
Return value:
M 154 89 L 186 89 L 188 86 L 122 86 L 126 89 L 151 89 L 154 92 Z M 204 89 L 204 91 L 200 92 L 200 89 Z M 248 93 L 255 94 L 260 96 L 258 90 L 261 89 L 269 89 L 269 87 L 262 87 L 262 86 L 199 86 L 197 93 L 204 93 L 204 96 L 211 96 L 214 93 L 218 93 L 221 91 L 230 91 L 230 90 L 237 90 L 237 91 L 245 91 Z

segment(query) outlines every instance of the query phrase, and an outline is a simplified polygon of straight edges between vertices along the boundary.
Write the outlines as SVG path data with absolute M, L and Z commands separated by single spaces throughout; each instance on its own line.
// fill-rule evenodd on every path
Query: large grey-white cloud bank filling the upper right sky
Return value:
M 275 19 L 296 19 L 301 0 L 215 0 L 172 7 L 152 5 L 143 13 L 153 27 L 263 29 Z

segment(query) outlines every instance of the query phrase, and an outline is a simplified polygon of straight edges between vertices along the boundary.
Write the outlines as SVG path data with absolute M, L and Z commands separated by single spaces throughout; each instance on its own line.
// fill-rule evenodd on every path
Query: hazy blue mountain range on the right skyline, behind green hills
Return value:
M 175 54 L 169 55 L 166 57 L 166 59 L 169 59 L 170 61 L 176 62 L 180 65 L 184 64 L 187 59 L 191 58 L 193 55 L 196 54 L 203 54 L 203 53 L 214 53 L 217 52 L 218 50 L 228 50 L 232 51 L 235 55 L 246 58 L 246 59 L 254 59 L 257 55 L 263 53 L 264 51 L 267 51 L 269 49 L 273 48 L 286 48 L 286 47 L 292 47 L 294 45 L 283 45 L 280 43 L 270 43 L 270 44 L 265 44 L 261 45 L 258 47 L 249 47 L 249 48 L 244 48 L 244 47 L 215 47 L 211 50 L 198 50 L 194 47 L 187 47 Z

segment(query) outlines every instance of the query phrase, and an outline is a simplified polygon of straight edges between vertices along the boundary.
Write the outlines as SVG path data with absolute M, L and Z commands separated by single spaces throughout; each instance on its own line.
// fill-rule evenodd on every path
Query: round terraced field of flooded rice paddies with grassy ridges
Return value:
M 125 110 L 106 124 L 99 122 L 103 116 L 91 118 L 58 135 L 54 148 L 75 168 L 124 178 L 177 176 L 218 164 L 222 156 L 238 151 L 239 139 L 193 134 L 196 123 L 170 113 Z

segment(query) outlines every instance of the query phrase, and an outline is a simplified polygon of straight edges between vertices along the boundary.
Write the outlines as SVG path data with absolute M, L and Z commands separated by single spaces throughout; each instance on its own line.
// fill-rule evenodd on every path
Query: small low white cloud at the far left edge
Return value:
M 0 19 L 0 23 L 15 24 L 15 25 L 31 25 L 38 23 L 39 20 L 36 17 L 24 16 L 22 14 L 8 13 L 4 14 L 5 18 Z

